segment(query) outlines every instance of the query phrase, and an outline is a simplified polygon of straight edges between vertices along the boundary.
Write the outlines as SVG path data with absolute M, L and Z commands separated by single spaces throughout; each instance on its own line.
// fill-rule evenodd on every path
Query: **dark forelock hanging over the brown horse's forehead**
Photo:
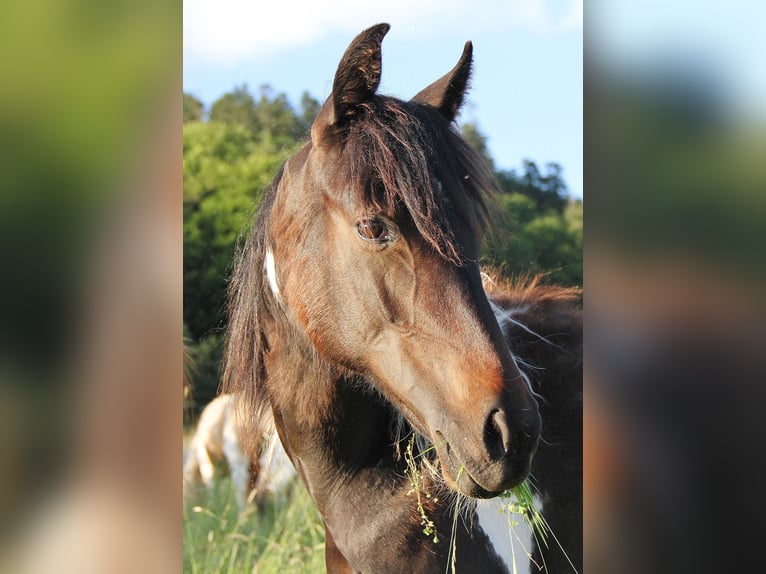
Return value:
M 423 239 L 441 257 L 462 263 L 447 207 L 483 230 L 485 199 L 496 183 L 487 161 L 436 109 L 375 96 L 359 106 L 342 135 L 343 189 L 367 210 L 393 215 L 406 209 Z

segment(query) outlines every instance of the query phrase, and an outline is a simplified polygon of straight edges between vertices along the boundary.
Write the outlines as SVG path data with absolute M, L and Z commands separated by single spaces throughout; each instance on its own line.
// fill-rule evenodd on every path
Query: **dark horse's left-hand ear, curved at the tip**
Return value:
M 359 34 L 351 42 L 338 64 L 332 94 L 311 128 L 316 140 L 328 127 L 343 127 L 356 115 L 359 105 L 372 99 L 380 85 L 383 37 L 391 28 L 377 24 Z

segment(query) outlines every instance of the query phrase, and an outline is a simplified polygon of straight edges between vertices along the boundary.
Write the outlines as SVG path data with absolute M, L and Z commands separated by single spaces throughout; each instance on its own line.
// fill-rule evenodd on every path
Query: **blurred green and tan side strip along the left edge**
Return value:
M 178 571 L 181 5 L 0 22 L 0 571 Z

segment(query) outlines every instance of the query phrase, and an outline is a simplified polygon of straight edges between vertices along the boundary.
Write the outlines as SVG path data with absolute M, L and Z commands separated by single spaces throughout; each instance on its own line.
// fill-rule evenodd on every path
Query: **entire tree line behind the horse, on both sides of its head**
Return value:
M 194 359 L 193 401 L 217 392 L 226 325 L 226 286 L 235 245 L 282 162 L 307 139 L 320 104 L 304 92 L 294 107 L 268 85 L 239 86 L 209 109 L 183 94 L 184 336 Z M 464 137 L 493 166 L 495 226 L 482 263 L 503 275 L 543 272 L 582 285 L 582 201 L 568 196 L 561 167 L 495 167 L 486 138 L 464 123 Z

